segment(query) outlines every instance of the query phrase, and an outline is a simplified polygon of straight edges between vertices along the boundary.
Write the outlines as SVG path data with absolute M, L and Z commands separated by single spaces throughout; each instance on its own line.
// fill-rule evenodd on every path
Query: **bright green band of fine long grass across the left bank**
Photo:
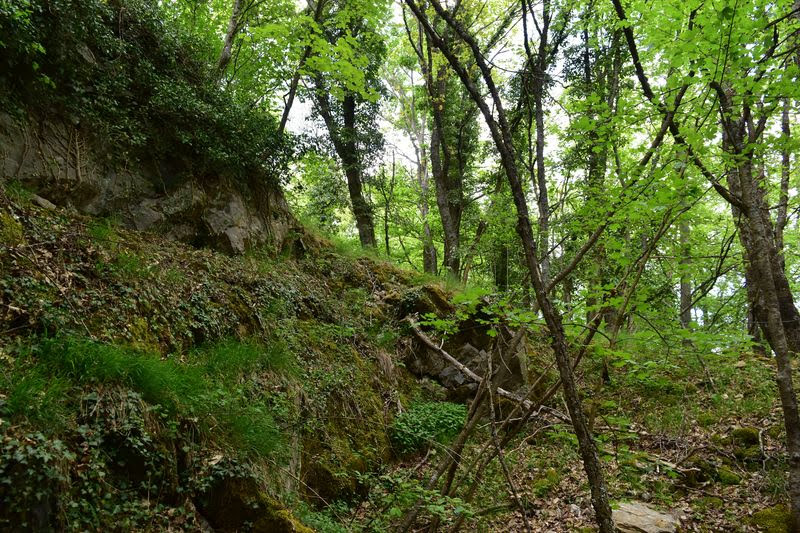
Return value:
M 12 421 L 57 432 L 74 422 L 76 391 L 118 385 L 170 415 L 196 421 L 202 435 L 212 434 L 246 453 L 269 455 L 280 444 L 270 406 L 241 382 L 253 371 L 289 370 L 285 346 L 223 340 L 192 350 L 185 362 L 133 348 L 80 337 L 41 339 L 10 356 L 2 372 L 8 390 L 2 412 Z

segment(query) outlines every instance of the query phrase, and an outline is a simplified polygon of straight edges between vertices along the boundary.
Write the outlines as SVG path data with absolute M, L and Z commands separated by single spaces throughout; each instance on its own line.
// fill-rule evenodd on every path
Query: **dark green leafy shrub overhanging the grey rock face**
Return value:
M 156 0 L 0 0 L 0 105 L 57 116 L 127 159 L 277 183 L 291 148 L 267 109 L 216 83 Z

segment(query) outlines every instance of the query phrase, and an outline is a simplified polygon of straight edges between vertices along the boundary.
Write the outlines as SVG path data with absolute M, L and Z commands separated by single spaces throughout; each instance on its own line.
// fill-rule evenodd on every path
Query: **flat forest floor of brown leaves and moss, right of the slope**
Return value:
M 773 361 L 753 353 L 712 352 L 701 364 L 691 348 L 641 353 L 637 359 L 653 366 L 648 372 L 612 370 L 611 383 L 603 386 L 591 378 L 583 383 L 612 501 L 645 502 L 677 517 L 681 531 L 788 531 L 782 506 L 784 429 Z M 591 365 L 584 376 L 599 376 L 600 369 Z M 489 439 L 484 427 L 467 446 L 464 463 Z M 415 457 L 393 475 L 414 472 L 411 477 L 425 480 L 437 455 Z M 506 462 L 531 531 L 596 530 L 568 426 L 554 419 L 531 424 L 506 448 Z M 495 461 L 474 499 L 477 518 L 463 530 L 526 531 L 512 502 Z M 356 511 L 374 512 L 369 503 Z

